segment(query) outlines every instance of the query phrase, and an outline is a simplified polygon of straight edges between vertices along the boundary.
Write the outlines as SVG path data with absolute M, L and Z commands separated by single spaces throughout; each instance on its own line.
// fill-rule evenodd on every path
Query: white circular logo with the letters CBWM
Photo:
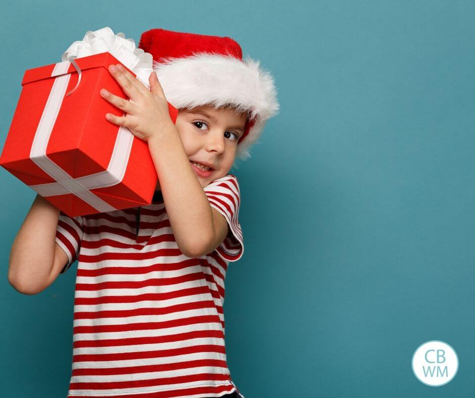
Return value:
M 457 353 L 444 341 L 426 341 L 412 356 L 412 371 L 426 385 L 438 387 L 447 384 L 458 371 Z

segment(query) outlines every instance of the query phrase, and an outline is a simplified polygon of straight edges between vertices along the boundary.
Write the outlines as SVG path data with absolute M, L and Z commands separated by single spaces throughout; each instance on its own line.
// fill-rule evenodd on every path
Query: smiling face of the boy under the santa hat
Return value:
M 186 155 L 202 187 L 225 176 L 236 156 L 237 140 L 243 135 L 246 114 L 234 109 L 201 106 L 182 109 L 176 118 Z M 201 170 L 192 161 L 211 165 Z

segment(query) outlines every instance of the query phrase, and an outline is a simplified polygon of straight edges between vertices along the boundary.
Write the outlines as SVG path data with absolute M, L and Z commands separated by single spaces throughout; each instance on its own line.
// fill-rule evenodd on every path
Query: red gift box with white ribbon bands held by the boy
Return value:
M 0 166 L 70 217 L 150 204 L 158 177 L 148 145 L 106 120 L 123 113 L 99 94 L 128 99 L 107 69 L 120 62 L 110 53 L 75 62 L 80 75 L 69 61 L 25 72 Z

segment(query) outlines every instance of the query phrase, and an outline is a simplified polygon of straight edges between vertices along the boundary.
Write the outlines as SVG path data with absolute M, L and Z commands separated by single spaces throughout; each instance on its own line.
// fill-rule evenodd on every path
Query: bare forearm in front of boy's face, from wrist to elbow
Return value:
M 178 247 L 199 253 L 213 240 L 213 214 L 176 127 L 171 124 L 151 138 L 149 150 Z

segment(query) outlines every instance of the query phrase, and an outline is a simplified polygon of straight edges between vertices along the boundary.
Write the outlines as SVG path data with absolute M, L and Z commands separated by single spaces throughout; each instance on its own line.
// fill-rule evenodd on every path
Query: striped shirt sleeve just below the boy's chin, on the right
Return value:
M 216 252 L 225 261 L 237 261 L 244 254 L 243 231 L 238 220 L 241 195 L 237 178 L 227 174 L 203 189 L 211 207 L 224 216 L 230 229 Z

